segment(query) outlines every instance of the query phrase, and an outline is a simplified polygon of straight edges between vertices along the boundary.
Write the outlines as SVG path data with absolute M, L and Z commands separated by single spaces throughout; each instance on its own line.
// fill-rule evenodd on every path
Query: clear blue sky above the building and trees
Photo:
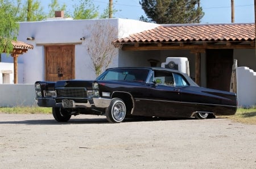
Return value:
M 65 3 L 72 7 L 72 3 L 79 3 L 80 0 L 58 0 L 60 4 Z M 102 13 L 109 0 L 91 0 Z M 231 0 L 201 0 L 201 7 L 204 11 L 204 17 L 201 23 L 231 23 Z M 51 0 L 44 0 L 41 4 L 44 9 L 48 8 Z M 120 10 L 113 16 L 114 18 L 126 18 L 139 20 L 140 16 L 146 16 L 139 5 L 139 0 L 113 0 L 114 9 Z M 254 21 L 254 0 L 234 0 L 234 20 L 236 23 L 251 23 Z M 72 9 L 71 9 L 72 10 Z

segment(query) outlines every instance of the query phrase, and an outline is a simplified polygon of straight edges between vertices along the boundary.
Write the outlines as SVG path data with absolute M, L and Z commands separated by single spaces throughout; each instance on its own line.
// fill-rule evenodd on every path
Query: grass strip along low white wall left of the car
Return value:
M 0 113 L 12 114 L 49 114 L 52 113 L 51 107 L 0 107 Z

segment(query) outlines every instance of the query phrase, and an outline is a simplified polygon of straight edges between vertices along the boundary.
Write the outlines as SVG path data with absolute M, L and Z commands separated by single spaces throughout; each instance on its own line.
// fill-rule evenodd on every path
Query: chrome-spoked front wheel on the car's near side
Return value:
M 122 99 L 114 98 L 106 108 L 106 118 L 109 122 L 117 123 L 125 119 L 126 106 Z

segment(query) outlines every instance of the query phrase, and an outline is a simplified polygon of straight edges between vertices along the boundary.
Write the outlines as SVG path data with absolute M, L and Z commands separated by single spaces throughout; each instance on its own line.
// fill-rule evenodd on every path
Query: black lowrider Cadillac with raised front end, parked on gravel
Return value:
M 200 87 L 162 67 L 110 68 L 95 81 L 38 81 L 35 91 L 36 103 L 52 107 L 59 122 L 79 114 L 105 115 L 113 123 L 133 116 L 206 119 L 237 110 L 236 94 Z

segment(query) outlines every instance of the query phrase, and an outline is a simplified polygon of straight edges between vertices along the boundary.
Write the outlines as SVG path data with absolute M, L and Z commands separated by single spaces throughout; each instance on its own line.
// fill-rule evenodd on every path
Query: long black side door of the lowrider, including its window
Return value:
M 170 71 L 154 71 L 154 83 L 147 84 L 143 97 L 135 98 L 134 115 L 179 116 L 182 105 L 179 88 Z

